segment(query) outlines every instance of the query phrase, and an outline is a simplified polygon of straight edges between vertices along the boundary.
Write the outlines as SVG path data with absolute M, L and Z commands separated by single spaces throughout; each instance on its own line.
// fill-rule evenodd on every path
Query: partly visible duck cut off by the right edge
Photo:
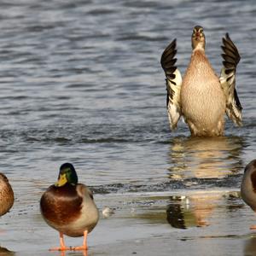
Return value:
M 247 164 L 241 181 L 241 198 L 256 212 L 256 160 Z M 251 226 L 256 230 L 256 225 Z

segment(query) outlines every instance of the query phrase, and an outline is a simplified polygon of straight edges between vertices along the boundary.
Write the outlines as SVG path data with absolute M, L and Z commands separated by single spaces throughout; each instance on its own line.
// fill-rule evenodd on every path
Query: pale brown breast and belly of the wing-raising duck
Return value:
M 183 117 L 193 136 L 223 135 L 224 91 L 201 49 L 194 49 L 183 76 L 181 105 Z

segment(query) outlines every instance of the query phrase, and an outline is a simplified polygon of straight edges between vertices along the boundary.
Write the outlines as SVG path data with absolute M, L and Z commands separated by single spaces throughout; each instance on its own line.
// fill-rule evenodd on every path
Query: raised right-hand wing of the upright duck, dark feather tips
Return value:
M 223 38 L 223 44 L 221 48 L 224 51 L 224 54 L 222 54 L 224 67 L 221 69 L 219 81 L 226 98 L 226 114 L 236 125 L 241 126 L 242 108 L 236 92 L 236 66 L 240 61 L 240 55 L 228 33 L 226 33 L 226 37 Z

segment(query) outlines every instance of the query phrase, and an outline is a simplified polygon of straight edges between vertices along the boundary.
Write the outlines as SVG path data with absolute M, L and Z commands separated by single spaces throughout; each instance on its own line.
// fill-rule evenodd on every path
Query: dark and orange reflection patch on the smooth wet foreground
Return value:
M 210 224 L 207 219 L 222 196 L 199 194 L 171 197 L 172 203 L 167 207 L 166 219 L 172 227 L 177 229 L 205 227 Z

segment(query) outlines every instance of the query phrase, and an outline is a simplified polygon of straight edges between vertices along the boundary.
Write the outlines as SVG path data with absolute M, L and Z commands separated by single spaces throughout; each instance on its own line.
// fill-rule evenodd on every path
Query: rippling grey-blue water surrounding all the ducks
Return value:
M 47 251 L 58 234 L 44 223 L 38 201 L 70 161 L 99 209 L 114 209 L 90 234 L 89 255 L 119 255 L 120 247 L 122 255 L 145 255 L 155 241 L 162 247 L 148 255 L 169 255 L 170 244 L 177 255 L 216 255 L 216 244 L 218 255 L 256 251 L 248 230 L 256 218 L 238 193 L 256 149 L 253 0 L 23 0 L 0 9 L 0 167 L 15 190 L 15 206 L 1 218 L 1 247 L 15 255 L 60 254 Z M 197 24 L 217 73 L 225 32 L 241 53 L 236 84 L 244 125 L 227 121 L 217 139 L 190 138 L 182 122 L 171 133 L 166 116 L 160 55 L 177 38 L 184 72 Z

